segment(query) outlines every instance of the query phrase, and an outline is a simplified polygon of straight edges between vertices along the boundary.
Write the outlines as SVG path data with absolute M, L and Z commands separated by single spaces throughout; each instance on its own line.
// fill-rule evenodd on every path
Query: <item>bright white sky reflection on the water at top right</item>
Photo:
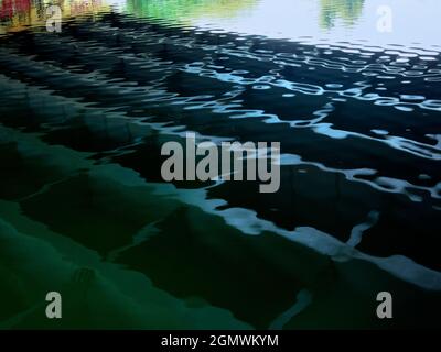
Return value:
M 361 12 L 352 20 L 345 19 L 345 8 L 353 7 L 355 1 L 358 0 L 260 0 L 233 18 L 206 15 L 192 22 L 204 29 L 271 38 L 302 40 L 309 36 L 312 42 L 366 41 L 366 44 L 383 47 L 392 44 L 441 51 L 440 0 L 359 0 Z M 392 11 L 390 33 L 377 30 L 377 10 L 381 6 L 388 6 Z M 331 9 L 331 15 L 334 16 L 332 25 L 327 28 L 322 20 L 325 9 Z

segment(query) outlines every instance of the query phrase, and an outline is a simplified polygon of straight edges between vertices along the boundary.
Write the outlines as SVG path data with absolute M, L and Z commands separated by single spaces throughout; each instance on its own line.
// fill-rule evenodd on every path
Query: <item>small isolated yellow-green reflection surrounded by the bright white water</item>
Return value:
M 331 29 L 337 19 L 353 25 L 362 15 L 365 0 L 320 0 L 320 26 Z

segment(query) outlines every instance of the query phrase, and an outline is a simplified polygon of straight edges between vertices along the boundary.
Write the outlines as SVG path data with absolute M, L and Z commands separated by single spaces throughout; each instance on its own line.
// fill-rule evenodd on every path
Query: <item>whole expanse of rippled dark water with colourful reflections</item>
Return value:
M 0 3 L 0 327 L 437 324 L 438 0 Z M 280 191 L 163 183 L 186 131 L 280 141 Z

